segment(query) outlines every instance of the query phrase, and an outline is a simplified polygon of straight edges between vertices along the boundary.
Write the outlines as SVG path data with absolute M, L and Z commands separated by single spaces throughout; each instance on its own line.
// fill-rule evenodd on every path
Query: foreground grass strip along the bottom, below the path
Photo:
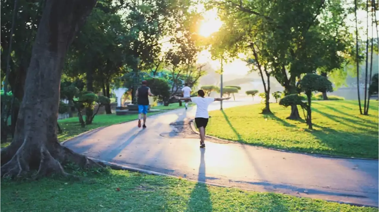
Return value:
M 85 180 L 44 178 L 0 180 L 2 211 L 167 211 L 167 212 L 379 212 L 370 207 L 330 203 L 275 193 L 196 184 L 128 171 L 75 173 Z M 117 188 L 120 190 L 117 191 Z

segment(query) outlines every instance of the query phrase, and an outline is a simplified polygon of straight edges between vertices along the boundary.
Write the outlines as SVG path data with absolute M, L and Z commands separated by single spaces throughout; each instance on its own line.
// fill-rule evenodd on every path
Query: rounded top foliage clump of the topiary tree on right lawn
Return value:
M 305 94 L 311 95 L 314 91 L 332 92 L 332 83 L 326 78 L 318 74 L 307 74 L 299 82 L 299 88 Z

